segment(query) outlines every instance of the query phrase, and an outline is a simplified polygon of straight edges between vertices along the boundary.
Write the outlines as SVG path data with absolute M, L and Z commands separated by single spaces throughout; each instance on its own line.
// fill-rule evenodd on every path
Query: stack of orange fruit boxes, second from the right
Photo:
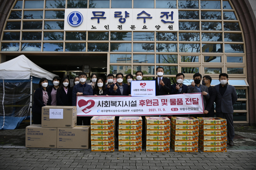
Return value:
M 171 147 L 174 152 L 198 152 L 199 120 L 172 117 Z

